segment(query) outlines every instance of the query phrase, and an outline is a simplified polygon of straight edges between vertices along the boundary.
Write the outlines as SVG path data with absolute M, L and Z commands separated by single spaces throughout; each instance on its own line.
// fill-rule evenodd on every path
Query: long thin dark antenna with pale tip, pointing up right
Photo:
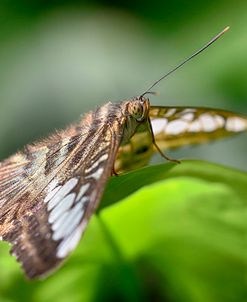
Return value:
M 174 71 L 176 71 L 177 69 L 179 69 L 180 67 L 182 67 L 185 63 L 187 63 L 188 61 L 190 61 L 191 59 L 193 59 L 194 57 L 196 57 L 197 55 L 199 55 L 201 52 L 203 52 L 206 48 L 208 48 L 211 44 L 213 44 L 216 40 L 218 40 L 225 32 L 228 31 L 230 27 L 227 26 L 226 28 L 224 28 L 220 33 L 218 33 L 216 36 L 214 36 L 207 44 L 205 44 L 202 48 L 200 48 L 199 50 L 197 50 L 195 53 L 193 53 L 190 57 L 188 57 L 187 59 L 185 59 L 184 61 L 182 61 L 180 64 L 178 64 L 175 68 L 173 68 L 172 70 L 170 70 L 168 73 L 166 73 L 165 75 L 163 75 L 160 79 L 158 79 L 157 81 L 155 81 L 142 95 L 144 96 L 145 94 L 149 93 L 150 89 L 152 89 L 154 86 L 156 86 L 159 82 L 161 82 L 162 80 L 164 80 L 165 78 L 167 78 L 170 74 L 172 74 Z

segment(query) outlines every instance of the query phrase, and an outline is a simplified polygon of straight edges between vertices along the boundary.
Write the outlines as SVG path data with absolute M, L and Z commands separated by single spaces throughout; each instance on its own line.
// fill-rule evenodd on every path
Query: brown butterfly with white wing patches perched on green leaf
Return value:
M 0 163 L 0 239 L 28 278 L 47 275 L 78 244 L 111 175 L 156 151 L 247 130 L 223 110 L 151 106 L 147 92 L 107 103 Z

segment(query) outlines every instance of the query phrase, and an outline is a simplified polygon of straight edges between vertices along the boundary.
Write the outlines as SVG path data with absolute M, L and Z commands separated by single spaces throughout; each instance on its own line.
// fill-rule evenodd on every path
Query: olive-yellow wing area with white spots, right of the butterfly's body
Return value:
M 160 149 L 201 144 L 247 130 L 247 118 L 229 111 L 197 107 L 151 106 L 149 117 Z M 148 123 L 121 146 L 115 164 L 123 172 L 146 165 L 157 149 Z

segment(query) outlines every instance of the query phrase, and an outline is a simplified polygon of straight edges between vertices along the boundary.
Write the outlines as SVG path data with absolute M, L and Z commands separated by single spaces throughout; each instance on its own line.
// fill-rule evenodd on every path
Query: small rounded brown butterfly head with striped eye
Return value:
M 128 114 L 134 118 L 137 122 L 142 122 L 147 119 L 150 108 L 150 102 L 148 98 L 143 96 L 135 97 L 127 106 Z

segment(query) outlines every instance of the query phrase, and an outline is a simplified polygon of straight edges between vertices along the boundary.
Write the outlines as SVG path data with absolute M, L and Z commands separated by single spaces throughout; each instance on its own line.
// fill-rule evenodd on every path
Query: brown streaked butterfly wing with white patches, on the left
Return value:
M 0 238 L 29 278 L 47 274 L 77 245 L 111 174 L 121 129 L 63 135 L 0 165 Z

